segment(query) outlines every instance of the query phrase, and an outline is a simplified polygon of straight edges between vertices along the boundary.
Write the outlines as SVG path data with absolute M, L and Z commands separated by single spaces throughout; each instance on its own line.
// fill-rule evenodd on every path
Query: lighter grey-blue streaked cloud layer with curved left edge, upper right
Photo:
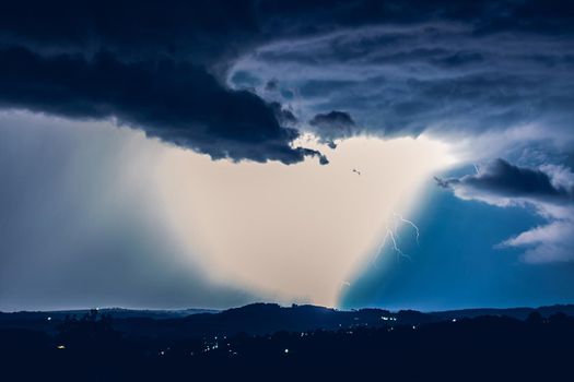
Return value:
M 435 5 L 431 19 L 422 11 L 422 20 L 271 41 L 243 56 L 231 73 L 278 79 L 297 95 L 280 99 L 293 104 L 297 116 L 345 110 L 368 134 L 457 142 L 536 127 L 549 141 L 574 141 L 574 60 L 567 53 L 574 43 L 564 17 L 547 28 L 535 15 L 536 21 L 512 24 L 489 20 L 481 7 L 457 17 Z M 550 32 L 558 24 L 561 35 Z M 261 87 L 256 91 L 266 96 Z M 509 146 L 522 136 L 514 139 Z

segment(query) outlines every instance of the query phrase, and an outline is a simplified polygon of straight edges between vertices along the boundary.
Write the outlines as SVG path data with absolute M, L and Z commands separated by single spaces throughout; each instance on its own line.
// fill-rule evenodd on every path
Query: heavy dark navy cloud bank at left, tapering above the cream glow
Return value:
M 291 147 L 269 105 L 249 92 L 223 88 L 204 70 L 168 58 L 122 62 L 110 52 L 92 59 L 0 50 L 0 105 L 80 119 L 115 118 L 149 136 L 213 158 L 281 160 L 306 155 Z

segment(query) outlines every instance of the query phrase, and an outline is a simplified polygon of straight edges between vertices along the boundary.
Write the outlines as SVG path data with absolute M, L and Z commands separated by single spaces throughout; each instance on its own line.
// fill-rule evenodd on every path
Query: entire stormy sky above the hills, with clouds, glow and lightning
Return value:
M 0 310 L 574 301 L 563 1 L 20 1 Z

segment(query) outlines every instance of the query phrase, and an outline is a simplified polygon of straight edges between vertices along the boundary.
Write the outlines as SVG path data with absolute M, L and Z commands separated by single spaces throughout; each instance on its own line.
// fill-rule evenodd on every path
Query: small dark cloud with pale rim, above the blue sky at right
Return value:
M 462 189 L 468 193 L 483 193 L 500 198 L 527 199 L 558 204 L 572 203 L 574 184 L 557 177 L 553 167 L 543 169 L 518 167 L 496 159 L 478 174 L 461 178 L 440 179 L 438 186 Z

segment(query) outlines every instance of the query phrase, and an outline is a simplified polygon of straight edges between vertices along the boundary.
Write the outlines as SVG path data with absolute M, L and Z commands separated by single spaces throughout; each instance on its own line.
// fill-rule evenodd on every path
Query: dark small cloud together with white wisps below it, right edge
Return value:
M 464 200 L 496 206 L 530 206 L 548 220 L 500 243 L 499 248 L 523 248 L 528 263 L 574 261 L 574 174 L 562 166 L 526 168 L 496 159 L 478 174 L 440 179 Z

